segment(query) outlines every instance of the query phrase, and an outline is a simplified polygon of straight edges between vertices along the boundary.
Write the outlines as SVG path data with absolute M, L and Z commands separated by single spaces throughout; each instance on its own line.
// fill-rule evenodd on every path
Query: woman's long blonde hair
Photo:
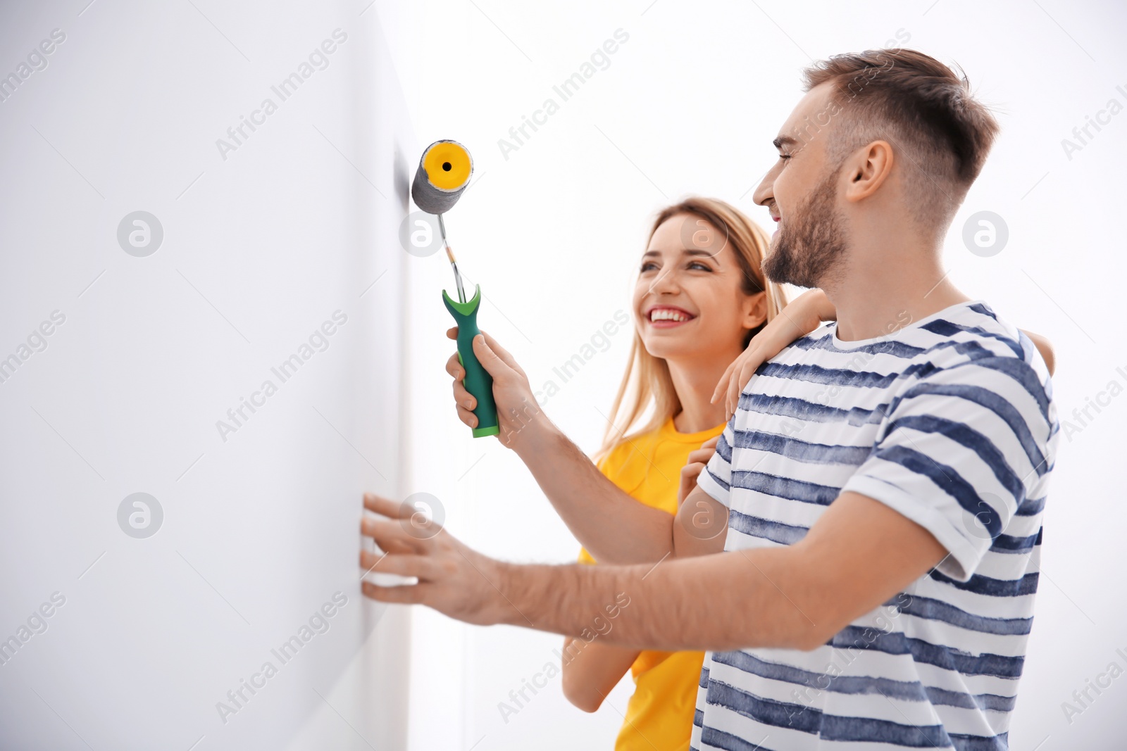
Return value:
M 766 321 L 771 321 L 783 305 L 787 297 L 782 288 L 769 283 L 763 276 L 763 258 L 766 254 L 770 239 L 766 232 L 755 222 L 747 218 L 738 208 L 716 198 L 692 196 L 663 208 L 654 226 L 649 231 L 647 244 L 663 222 L 677 214 L 687 214 L 706 220 L 717 230 L 727 233 L 736 262 L 744 272 L 743 290 L 747 295 L 766 292 Z M 763 325 L 766 324 L 766 321 Z M 744 346 L 758 333 L 763 325 L 747 332 Z M 628 399 L 629 394 L 629 399 Z M 653 406 L 653 413 L 641 422 L 646 410 Z M 622 444 L 642 433 L 657 430 L 666 420 L 681 411 L 681 400 L 673 387 L 669 366 L 660 357 L 654 357 L 646 351 L 641 337 L 635 329 L 633 341 L 630 345 L 630 359 L 622 375 L 622 384 L 611 408 L 610 424 L 603 436 L 603 445 L 595 454 L 596 458 L 606 456 Z M 639 424 L 641 423 L 641 424 Z

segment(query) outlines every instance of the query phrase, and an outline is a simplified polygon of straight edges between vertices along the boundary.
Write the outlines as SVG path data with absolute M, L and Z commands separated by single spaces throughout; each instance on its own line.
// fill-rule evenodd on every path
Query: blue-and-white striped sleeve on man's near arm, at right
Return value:
M 842 488 L 900 512 L 949 555 L 940 572 L 968 581 L 1051 470 L 1056 418 L 1040 378 L 1014 357 L 937 368 L 893 399 L 868 459 Z

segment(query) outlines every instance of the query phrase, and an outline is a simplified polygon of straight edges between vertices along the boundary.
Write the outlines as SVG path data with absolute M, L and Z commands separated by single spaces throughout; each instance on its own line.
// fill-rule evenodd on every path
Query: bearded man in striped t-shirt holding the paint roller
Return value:
M 1058 426 L 1032 343 L 941 263 L 997 124 L 915 51 L 805 77 L 755 194 L 779 224 L 764 270 L 837 322 L 760 368 L 677 517 L 605 482 L 479 338 L 506 439 L 603 565 L 494 561 L 369 495 L 400 520 L 363 522 L 388 553 L 362 565 L 419 583 L 364 592 L 710 650 L 694 749 L 1005 749 Z

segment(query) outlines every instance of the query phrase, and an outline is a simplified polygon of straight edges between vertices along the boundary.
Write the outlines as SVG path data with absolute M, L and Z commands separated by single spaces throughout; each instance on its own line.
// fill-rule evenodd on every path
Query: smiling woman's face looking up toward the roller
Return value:
M 766 319 L 766 294 L 743 292 L 744 274 L 724 231 L 690 214 L 662 222 L 641 258 L 633 310 L 654 357 L 735 359 Z

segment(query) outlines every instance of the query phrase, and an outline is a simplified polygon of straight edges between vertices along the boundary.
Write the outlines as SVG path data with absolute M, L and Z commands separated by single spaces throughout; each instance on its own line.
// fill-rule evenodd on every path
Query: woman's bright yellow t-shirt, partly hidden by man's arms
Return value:
M 664 426 L 632 438 L 607 454 L 600 471 L 615 485 L 647 506 L 677 512 L 681 468 L 689 454 L 719 436 L 724 424 L 700 432 L 677 432 L 673 418 Z M 595 563 L 586 549 L 580 563 Z M 703 652 L 645 650 L 630 665 L 635 692 L 614 743 L 615 751 L 683 751 L 689 748 L 700 685 Z

